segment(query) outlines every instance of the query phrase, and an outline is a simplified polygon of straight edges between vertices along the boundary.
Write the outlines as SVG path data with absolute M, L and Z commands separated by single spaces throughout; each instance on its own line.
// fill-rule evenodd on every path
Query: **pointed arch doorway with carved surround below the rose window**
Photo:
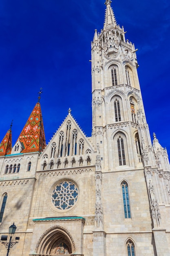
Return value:
M 75 244 L 71 234 L 64 227 L 56 225 L 42 234 L 35 251 L 38 256 L 71 256 L 75 252 Z

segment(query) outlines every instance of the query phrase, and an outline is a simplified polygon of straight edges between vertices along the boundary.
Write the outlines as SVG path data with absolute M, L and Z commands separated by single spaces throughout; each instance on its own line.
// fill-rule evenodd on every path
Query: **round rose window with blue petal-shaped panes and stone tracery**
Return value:
M 78 198 L 77 186 L 70 181 L 58 184 L 51 195 L 55 208 L 59 210 L 70 209 Z

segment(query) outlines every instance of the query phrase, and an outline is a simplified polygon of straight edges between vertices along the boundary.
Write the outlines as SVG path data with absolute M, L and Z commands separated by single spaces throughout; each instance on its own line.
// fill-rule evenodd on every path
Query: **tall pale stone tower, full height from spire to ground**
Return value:
M 93 233 L 94 255 L 125 255 L 124 244 L 128 256 L 168 256 L 168 155 L 155 134 L 152 146 L 137 74 L 137 49 L 117 25 L 111 2 L 105 2 L 104 28 L 100 33 L 95 30 L 91 43 L 92 140 L 99 148 L 101 180 L 96 187 L 102 194 L 100 204 L 96 198 L 96 213 L 103 216 L 102 226 Z M 141 247 L 135 249 L 140 239 Z M 148 253 L 141 249 L 147 239 L 152 240 Z M 113 243 L 119 247 L 114 248 L 117 253 L 109 249 Z

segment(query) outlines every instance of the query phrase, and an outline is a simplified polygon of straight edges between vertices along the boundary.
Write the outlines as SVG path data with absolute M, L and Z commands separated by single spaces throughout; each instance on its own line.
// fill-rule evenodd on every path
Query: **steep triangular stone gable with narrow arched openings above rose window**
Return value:
M 91 142 L 69 112 L 40 156 L 41 169 L 91 165 L 94 153 Z

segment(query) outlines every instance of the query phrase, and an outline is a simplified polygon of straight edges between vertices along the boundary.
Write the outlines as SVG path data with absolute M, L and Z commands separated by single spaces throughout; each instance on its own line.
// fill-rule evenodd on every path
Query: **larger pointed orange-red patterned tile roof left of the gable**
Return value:
M 41 152 L 45 148 L 46 141 L 40 102 L 35 105 L 18 139 L 24 147 L 22 153 Z

